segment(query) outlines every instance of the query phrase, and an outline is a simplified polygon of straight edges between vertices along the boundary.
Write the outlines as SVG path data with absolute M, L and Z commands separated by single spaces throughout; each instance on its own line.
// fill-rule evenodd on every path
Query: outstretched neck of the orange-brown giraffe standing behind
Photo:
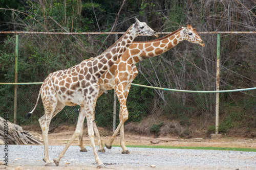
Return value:
M 163 38 L 159 38 L 154 41 L 134 42 L 129 47 L 129 50 L 125 52 L 125 55 L 123 55 L 122 58 L 125 57 L 126 60 L 131 58 L 133 59 L 133 64 L 136 64 L 139 61 L 163 54 L 164 52 L 170 50 L 170 48 L 173 48 L 179 42 L 183 41 L 181 36 L 182 30 L 183 29 L 179 29 Z

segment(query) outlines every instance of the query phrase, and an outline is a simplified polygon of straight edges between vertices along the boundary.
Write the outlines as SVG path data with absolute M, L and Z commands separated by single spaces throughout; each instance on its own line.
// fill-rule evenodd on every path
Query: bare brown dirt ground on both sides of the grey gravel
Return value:
M 38 128 L 33 127 L 24 127 L 24 130 L 28 130 L 31 134 L 35 137 L 41 139 L 41 131 Z M 111 135 L 113 134 L 110 130 L 104 130 L 103 128 L 98 128 L 99 133 L 101 135 L 101 139 L 103 143 L 108 141 Z M 57 127 L 48 134 L 49 145 L 66 145 L 73 135 L 75 131 L 75 127 L 68 127 L 68 126 L 61 126 Z M 153 144 L 152 142 L 158 142 L 157 144 Z M 43 142 L 43 141 L 42 141 Z M 114 141 L 114 145 L 119 145 L 120 136 L 118 135 Z M 97 144 L 96 138 L 95 143 Z M 84 129 L 83 135 L 83 144 L 84 145 L 91 145 L 90 139 L 87 135 L 87 129 Z M 177 136 L 162 136 L 162 137 L 155 137 L 154 135 L 151 136 L 143 136 L 133 133 L 125 132 L 125 144 L 126 145 L 165 145 L 165 146 L 175 146 L 175 147 L 228 147 L 228 148 L 251 148 L 256 149 L 256 138 L 239 138 L 239 137 L 225 137 L 222 136 L 219 139 L 211 139 L 211 138 L 189 138 L 184 139 Z M 78 138 L 75 139 L 72 145 L 78 145 Z M 79 147 L 77 146 L 77 150 Z M 0 165 L 1 168 L 9 169 L 9 170 L 25 170 L 25 169 L 96 169 L 96 166 L 80 166 L 76 165 L 67 165 L 67 166 L 17 166 L 17 165 L 9 165 L 4 166 Z M 176 169 L 174 167 L 172 169 Z M 105 167 L 103 169 L 123 169 L 118 165 L 115 167 Z M 133 169 L 133 168 L 126 168 L 125 169 Z M 152 169 L 151 167 L 143 168 L 143 169 Z M 160 169 L 162 168 L 154 168 Z M 203 167 L 179 167 L 179 169 L 204 169 Z M 214 169 L 214 168 L 210 168 Z

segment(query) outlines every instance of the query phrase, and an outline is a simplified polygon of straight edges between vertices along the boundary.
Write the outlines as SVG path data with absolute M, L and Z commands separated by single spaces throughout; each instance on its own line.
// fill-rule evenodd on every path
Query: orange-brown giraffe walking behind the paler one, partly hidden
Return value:
M 147 42 L 133 42 L 126 52 L 117 60 L 115 64 L 113 64 L 98 80 L 99 93 L 97 95 L 97 99 L 99 96 L 107 90 L 115 89 L 117 94 L 117 98 L 120 103 L 120 112 L 119 119 L 120 123 L 116 128 L 114 134 L 111 136 L 109 141 L 105 143 L 106 148 L 111 149 L 112 143 L 120 130 L 120 146 L 122 148 L 122 154 L 129 154 L 130 152 L 125 147 L 124 143 L 124 130 L 123 123 L 128 119 L 128 111 L 126 108 L 126 99 L 129 93 L 131 83 L 135 79 L 138 74 L 138 70 L 136 68 L 136 63 L 139 61 L 156 57 L 168 50 L 173 48 L 179 42 L 187 40 L 192 43 L 200 44 L 204 47 L 204 42 L 197 34 L 196 29 L 192 28 L 190 23 L 187 23 L 186 28 L 181 28 L 169 35 L 159 38 L 153 41 Z M 94 108 L 96 105 L 96 101 L 94 102 Z M 99 138 L 98 130 L 96 123 L 93 123 L 94 131 Z M 79 142 L 82 143 L 82 136 L 79 138 Z M 100 149 L 99 151 L 104 150 L 102 141 L 99 140 Z

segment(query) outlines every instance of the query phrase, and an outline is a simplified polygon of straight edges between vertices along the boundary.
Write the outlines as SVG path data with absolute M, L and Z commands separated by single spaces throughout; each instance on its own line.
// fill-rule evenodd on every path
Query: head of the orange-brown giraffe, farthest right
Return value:
M 197 34 L 196 29 L 191 27 L 190 23 L 187 23 L 187 27 L 182 27 L 182 29 L 181 36 L 184 40 L 204 46 L 204 41 Z

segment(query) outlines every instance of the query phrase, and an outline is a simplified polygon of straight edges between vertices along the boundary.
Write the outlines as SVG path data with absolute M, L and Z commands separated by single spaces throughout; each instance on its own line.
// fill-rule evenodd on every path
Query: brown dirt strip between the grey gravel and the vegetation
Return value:
M 24 128 L 26 129 L 26 127 Z M 98 128 L 101 135 L 103 143 L 108 141 L 113 134 L 110 130 L 105 130 L 103 128 Z M 31 130 L 28 129 L 35 137 L 41 139 L 41 131 L 38 129 Z M 75 127 L 62 126 L 60 128 L 54 129 L 51 133 L 48 134 L 49 145 L 66 145 L 71 136 L 75 131 Z M 228 147 L 228 148 L 253 148 L 256 149 L 256 138 L 239 138 L 239 137 L 225 137 L 222 135 L 219 139 L 211 138 L 189 138 L 184 139 L 178 136 L 162 136 L 155 137 L 143 136 L 138 134 L 133 134 L 125 132 L 125 144 L 126 145 L 166 145 L 166 146 L 175 146 L 175 147 Z M 95 143 L 97 144 L 96 137 Z M 156 144 L 153 144 L 158 142 Z M 78 138 L 75 139 L 72 145 L 78 144 Z M 91 145 L 90 139 L 87 135 L 87 129 L 84 129 L 83 135 L 83 144 Z M 120 144 L 120 136 L 118 135 L 113 143 L 114 145 Z

